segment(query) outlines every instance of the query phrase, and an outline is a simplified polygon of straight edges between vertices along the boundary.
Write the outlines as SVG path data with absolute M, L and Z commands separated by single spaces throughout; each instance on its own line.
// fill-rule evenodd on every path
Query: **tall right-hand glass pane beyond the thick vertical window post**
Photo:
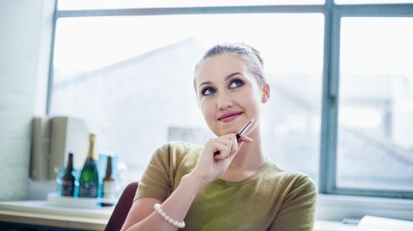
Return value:
M 413 190 L 413 18 L 341 21 L 337 186 Z

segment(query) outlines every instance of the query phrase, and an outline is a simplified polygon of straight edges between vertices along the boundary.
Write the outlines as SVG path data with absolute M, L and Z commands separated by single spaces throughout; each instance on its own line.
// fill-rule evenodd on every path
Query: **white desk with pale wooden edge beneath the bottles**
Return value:
M 9 201 L 0 202 L 0 221 L 103 231 L 113 209 L 73 209 L 50 206 L 47 201 Z

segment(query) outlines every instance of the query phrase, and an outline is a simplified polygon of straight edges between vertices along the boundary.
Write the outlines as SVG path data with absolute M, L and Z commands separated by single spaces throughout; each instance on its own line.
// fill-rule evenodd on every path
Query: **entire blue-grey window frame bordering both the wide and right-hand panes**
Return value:
M 219 13 L 323 13 L 324 50 L 322 77 L 322 111 L 320 133 L 319 193 L 332 195 L 355 195 L 413 199 L 413 191 L 367 190 L 336 187 L 337 126 L 340 64 L 341 17 L 378 16 L 412 17 L 413 3 L 397 4 L 335 4 L 325 0 L 324 4 L 311 5 L 251 5 L 251 6 L 207 6 L 207 7 L 160 7 L 128 9 L 58 10 L 55 0 L 51 54 L 47 86 L 46 115 L 50 114 L 53 86 L 53 58 L 56 22 L 60 17 L 93 16 L 141 16 L 171 14 L 219 14 Z

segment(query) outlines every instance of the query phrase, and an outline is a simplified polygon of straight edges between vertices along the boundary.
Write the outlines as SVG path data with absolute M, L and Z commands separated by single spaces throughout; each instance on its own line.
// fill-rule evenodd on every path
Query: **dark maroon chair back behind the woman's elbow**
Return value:
M 132 182 L 123 190 L 113 210 L 112 216 L 110 216 L 109 222 L 106 225 L 105 231 L 120 231 L 132 207 L 133 198 L 135 197 L 137 189 L 138 182 Z

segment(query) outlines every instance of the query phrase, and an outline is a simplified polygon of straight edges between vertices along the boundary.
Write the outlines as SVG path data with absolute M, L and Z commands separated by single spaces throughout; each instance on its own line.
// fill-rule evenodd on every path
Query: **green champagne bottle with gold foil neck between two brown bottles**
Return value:
M 98 173 L 95 162 L 95 134 L 89 135 L 89 152 L 80 173 L 79 197 L 96 197 Z

